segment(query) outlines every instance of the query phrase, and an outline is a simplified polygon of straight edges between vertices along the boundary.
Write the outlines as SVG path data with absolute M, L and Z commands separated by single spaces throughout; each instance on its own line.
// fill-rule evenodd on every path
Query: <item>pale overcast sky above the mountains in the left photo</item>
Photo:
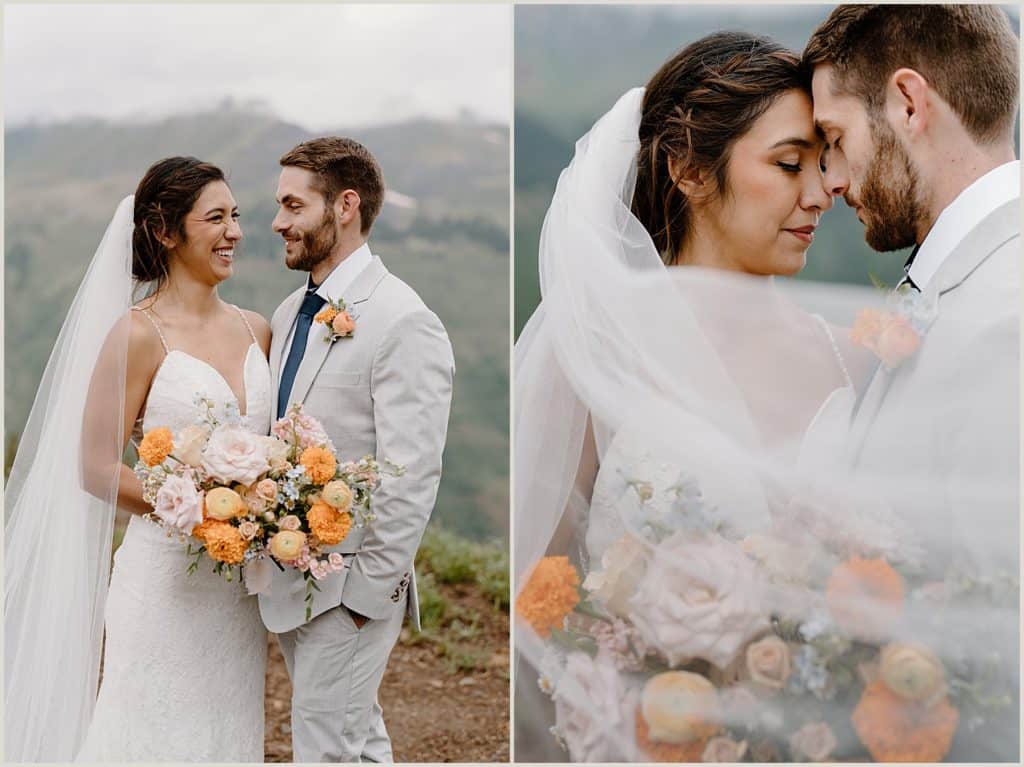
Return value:
M 4 119 L 153 118 L 256 101 L 315 130 L 508 122 L 512 8 L 7 5 Z

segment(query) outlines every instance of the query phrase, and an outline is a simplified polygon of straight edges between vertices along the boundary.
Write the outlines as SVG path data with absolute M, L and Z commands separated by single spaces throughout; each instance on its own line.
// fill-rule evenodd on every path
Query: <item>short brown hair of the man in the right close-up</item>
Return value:
M 991 5 L 840 5 L 811 35 L 808 72 L 831 65 L 833 91 L 881 115 L 901 67 L 921 74 L 979 143 L 1005 138 L 1018 103 L 1018 41 Z

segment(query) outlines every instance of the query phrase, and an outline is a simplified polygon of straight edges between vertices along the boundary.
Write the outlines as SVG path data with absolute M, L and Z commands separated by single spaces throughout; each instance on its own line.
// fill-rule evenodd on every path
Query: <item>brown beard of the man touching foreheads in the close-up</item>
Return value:
M 924 218 L 918 169 L 888 125 L 871 121 L 871 137 L 874 157 L 854 201 L 866 214 L 864 240 L 883 253 L 909 248 L 918 243 Z

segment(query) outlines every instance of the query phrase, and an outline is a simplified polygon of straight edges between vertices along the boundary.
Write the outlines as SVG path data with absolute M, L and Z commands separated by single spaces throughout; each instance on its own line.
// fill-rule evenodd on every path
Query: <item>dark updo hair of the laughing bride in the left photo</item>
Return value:
M 167 280 L 168 250 L 161 238 L 184 238 L 185 216 L 211 181 L 224 172 L 194 157 L 170 157 L 154 164 L 135 189 L 131 273 L 139 282 Z

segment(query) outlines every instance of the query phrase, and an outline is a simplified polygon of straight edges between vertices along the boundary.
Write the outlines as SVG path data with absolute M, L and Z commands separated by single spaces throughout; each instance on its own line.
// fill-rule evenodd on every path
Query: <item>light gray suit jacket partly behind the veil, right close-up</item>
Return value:
M 861 476 L 926 480 L 892 499 L 933 520 L 931 565 L 1017 571 L 1019 541 L 1020 199 L 988 214 L 926 286 L 938 315 L 918 352 L 880 369 L 852 424 Z

